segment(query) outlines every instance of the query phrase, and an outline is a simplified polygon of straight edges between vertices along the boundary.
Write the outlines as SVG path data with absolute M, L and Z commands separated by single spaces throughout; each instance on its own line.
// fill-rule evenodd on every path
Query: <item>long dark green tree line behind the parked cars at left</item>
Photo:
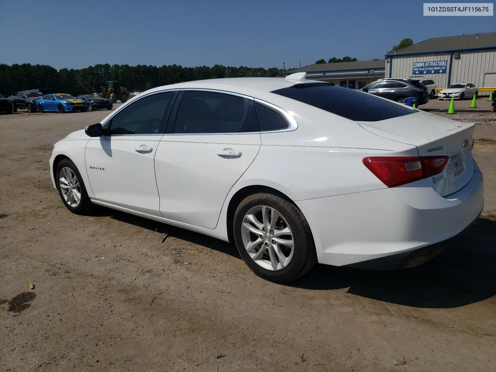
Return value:
M 230 67 L 216 64 L 213 67 L 183 67 L 181 65 L 129 66 L 127 64 L 96 64 L 82 69 L 54 67 L 44 64 L 0 64 L 0 93 L 14 95 L 27 89 L 52 88 L 72 95 L 86 93 L 79 81 L 88 82 L 97 92 L 108 80 L 118 80 L 128 91 L 145 91 L 157 86 L 191 80 L 223 77 L 281 77 L 282 68 Z

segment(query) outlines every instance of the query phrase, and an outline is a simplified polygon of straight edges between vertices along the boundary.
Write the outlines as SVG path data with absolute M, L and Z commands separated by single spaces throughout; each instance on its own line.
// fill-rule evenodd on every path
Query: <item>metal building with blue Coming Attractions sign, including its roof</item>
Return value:
M 433 38 L 386 54 L 386 76 L 496 87 L 496 32 Z M 489 95 L 480 91 L 479 95 Z

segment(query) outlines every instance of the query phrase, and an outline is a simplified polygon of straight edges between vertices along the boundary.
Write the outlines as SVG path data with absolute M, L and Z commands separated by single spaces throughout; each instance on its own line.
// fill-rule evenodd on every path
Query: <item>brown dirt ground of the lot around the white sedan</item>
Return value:
M 484 122 L 486 205 L 465 236 L 417 268 L 317 265 L 291 285 L 215 239 L 71 214 L 52 145 L 107 114 L 0 116 L 0 371 L 496 371 L 495 114 L 452 116 Z

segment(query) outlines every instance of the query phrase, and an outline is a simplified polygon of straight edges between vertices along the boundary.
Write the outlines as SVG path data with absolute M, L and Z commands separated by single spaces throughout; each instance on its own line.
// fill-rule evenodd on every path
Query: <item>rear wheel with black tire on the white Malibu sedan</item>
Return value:
M 317 262 L 307 219 L 282 196 L 262 192 L 248 195 L 236 209 L 233 228 L 238 251 L 263 279 L 291 282 Z

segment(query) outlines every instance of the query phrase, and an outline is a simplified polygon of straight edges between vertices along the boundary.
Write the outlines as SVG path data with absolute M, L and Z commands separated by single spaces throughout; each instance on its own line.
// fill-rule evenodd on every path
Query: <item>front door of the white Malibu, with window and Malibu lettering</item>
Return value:
M 94 198 L 161 216 L 154 157 L 177 90 L 152 93 L 104 124 L 103 137 L 86 145 L 86 169 Z

